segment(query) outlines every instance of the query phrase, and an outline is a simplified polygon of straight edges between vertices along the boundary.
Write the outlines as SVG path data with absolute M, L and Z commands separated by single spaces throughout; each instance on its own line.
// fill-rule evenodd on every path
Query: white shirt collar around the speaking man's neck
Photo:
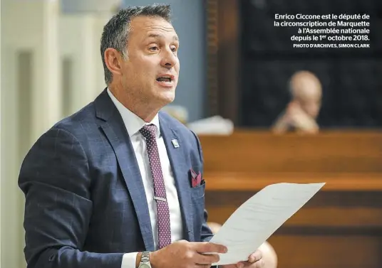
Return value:
M 108 95 L 109 95 L 110 99 L 115 104 L 115 107 L 117 107 L 118 112 L 120 112 L 120 116 L 123 119 L 123 123 L 125 123 L 125 127 L 128 130 L 128 134 L 129 134 L 130 137 L 134 136 L 135 134 L 137 134 L 139 132 L 139 130 L 142 127 L 145 126 L 145 124 L 155 124 L 155 126 L 158 129 L 158 131 L 157 131 L 157 139 L 159 138 L 159 136 L 160 136 L 160 127 L 159 127 L 159 117 L 158 117 L 158 114 L 155 115 L 155 117 L 153 118 L 153 120 L 151 120 L 151 122 L 147 123 L 147 122 L 143 121 L 143 119 L 138 117 L 138 115 L 134 114 L 128 108 L 123 106 L 123 104 L 120 103 L 120 101 L 117 100 L 116 97 L 114 97 L 113 93 L 110 92 L 109 88 L 108 88 L 107 91 L 108 91 Z

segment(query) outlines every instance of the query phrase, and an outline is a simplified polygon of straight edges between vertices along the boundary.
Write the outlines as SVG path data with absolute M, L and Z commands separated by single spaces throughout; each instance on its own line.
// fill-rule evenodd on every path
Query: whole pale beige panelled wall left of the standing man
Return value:
M 26 267 L 24 195 L 17 186 L 26 152 L 64 111 L 75 112 L 105 86 L 98 51 L 110 14 L 69 16 L 58 8 L 58 1 L 1 0 L 1 267 Z

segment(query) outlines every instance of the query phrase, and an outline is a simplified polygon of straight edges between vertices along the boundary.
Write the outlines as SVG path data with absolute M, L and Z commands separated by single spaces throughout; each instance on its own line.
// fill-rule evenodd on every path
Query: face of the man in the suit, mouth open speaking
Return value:
M 174 28 L 160 17 L 138 16 L 130 21 L 128 60 L 121 65 L 126 94 L 148 105 L 172 102 L 179 77 Z

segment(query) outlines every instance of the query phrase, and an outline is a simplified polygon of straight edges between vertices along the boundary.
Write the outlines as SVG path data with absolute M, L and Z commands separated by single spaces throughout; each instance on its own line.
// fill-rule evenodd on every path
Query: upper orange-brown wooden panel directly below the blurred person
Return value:
M 382 132 L 200 136 L 206 171 L 382 172 Z

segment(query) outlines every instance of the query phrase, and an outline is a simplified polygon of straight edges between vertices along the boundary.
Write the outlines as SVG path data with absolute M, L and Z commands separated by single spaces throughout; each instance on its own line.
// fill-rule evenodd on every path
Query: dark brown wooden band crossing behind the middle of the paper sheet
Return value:
M 208 189 L 208 184 L 206 187 Z M 224 223 L 254 193 L 207 190 L 205 202 L 210 220 Z M 374 228 L 382 231 L 382 194 L 321 191 L 289 218 L 283 227 Z

